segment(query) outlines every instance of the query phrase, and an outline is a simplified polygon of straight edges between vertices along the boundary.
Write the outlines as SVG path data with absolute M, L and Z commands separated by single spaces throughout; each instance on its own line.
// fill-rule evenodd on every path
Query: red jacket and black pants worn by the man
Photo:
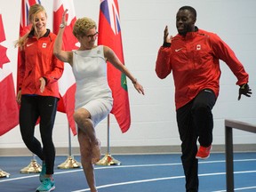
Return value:
M 198 191 L 197 139 L 201 146 L 212 145 L 212 108 L 219 95 L 220 60 L 237 77 L 236 84 L 248 83 L 248 74 L 235 53 L 213 33 L 196 28 L 186 36 L 174 36 L 172 44 L 164 44 L 158 51 L 156 75 L 163 79 L 172 72 L 174 79 L 187 192 Z

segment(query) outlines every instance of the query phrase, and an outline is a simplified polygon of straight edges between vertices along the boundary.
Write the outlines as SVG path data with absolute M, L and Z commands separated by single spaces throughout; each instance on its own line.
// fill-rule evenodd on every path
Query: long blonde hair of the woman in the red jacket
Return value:
M 47 18 L 47 13 L 46 13 L 46 11 L 44 9 L 44 6 L 42 6 L 41 4 L 33 4 L 32 6 L 30 6 L 29 11 L 28 11 L 28 22 L 29 22 L 29 24 L 30 23 L 32 24 L 32 28 L 24 36 L 20 36 L 20 38 L 15 43 L 15 47 L 18 46 L 22 50 L 24 45 L 26 44 L 26 42 L 28 40 L 28 34 L 32 30 L 36 31 L 36 28 L 34 27 L 34 23 L 35 23 L 35 20 L 36 20 L 36 14 L 38 12 L 44 12 L 45 16 Z M 36 33 L 37 33 L 37 31 L 36 31 Z

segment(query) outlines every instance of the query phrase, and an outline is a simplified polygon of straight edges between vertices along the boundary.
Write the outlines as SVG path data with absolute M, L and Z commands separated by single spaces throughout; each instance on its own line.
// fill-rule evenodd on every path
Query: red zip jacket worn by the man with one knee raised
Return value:
M 170 47 L 160 47 L 156 59 L 156 75 L 164 79 L 172 72 L 176 109 L 186 105 L 206 88 L 218 97 L 220 60 L 232 70 L 238 79 L 236 84 L 248 83 L 249 76 L 242 63 L 228 44 L 216 34 L 198 29 L 186 36 L 174 36 Z

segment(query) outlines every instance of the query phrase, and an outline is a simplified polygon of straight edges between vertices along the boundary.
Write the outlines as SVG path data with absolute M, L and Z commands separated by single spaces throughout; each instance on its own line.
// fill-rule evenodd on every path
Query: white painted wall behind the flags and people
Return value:
M 13 42 L 19 36 L 20 2 L 0 1 L 0 13 L 4 20 L 6 41 L 16 82 L 17 49 Z M 52 0 L 41 0 L 48 12 L 48 28 L 52 29 Z M 15 4 L 15 6 L 13 6 Z M 74 0 L 76 17 L 91 17 L 99 20 L 100 0 Z M 132 125 L 122 134 L 114 116 L 110 116 L 111 146 L 163 146 L 180 145 L 173 102 L 172 76 L 164 80 L 156 77 L 155 62 L 158 48 L 163 43 L 165 25 L 170 34 L 176 34 L 175 16 L 182 5 L 192 5 L 197 11 L 198 28 L 213 31 L 225 40 L 244 63 L 250 75 L 250 86 L 255 92 L 255 0 L 119 0 L 125 65 L 144 85 L 146 95 L 139 95 L 129 82 Z M 5 65 L 6 66 L 6 65 Z M 7 67 L 4 67 L 7 68 Z M 236 77 L 221 63 L 220 97 L 213 109 L 213 144 L 224 144 L 224 119 L 236 119 L 256 124 L 255 93 L 252 98 L 237 101 Z M 107 145 L 107 120 L 98 125 L 101 145 Z M 36 128 L 36 130 L 38 130 Z M 256 143 L 256 135 L 234 132 L 234 143 Z M 36 131 L 38 136 L 38 132 Z M 65 114 L 58 112 L 53 132 L 56 147 L 68 147 L 68 124 Z M 78 147 L 76 137 L 71 137 L 72 147 Z M 17 126 L 0 140 L 0 148 L 25 148 Z

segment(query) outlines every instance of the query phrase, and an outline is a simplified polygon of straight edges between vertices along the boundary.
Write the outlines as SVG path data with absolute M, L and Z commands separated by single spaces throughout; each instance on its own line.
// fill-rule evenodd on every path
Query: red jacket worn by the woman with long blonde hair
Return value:
M 58 80 L 62 76 L 64 64 L 53 55 L 56 35 L 47 29 L 44 36 L 36 39 L 30 33 L 24 49 L 20 51 L 18 88 L 21 94 L 36 94 L 60 98 Z M 39 78 L 46 78 L 44 92 L 40 92 Z

